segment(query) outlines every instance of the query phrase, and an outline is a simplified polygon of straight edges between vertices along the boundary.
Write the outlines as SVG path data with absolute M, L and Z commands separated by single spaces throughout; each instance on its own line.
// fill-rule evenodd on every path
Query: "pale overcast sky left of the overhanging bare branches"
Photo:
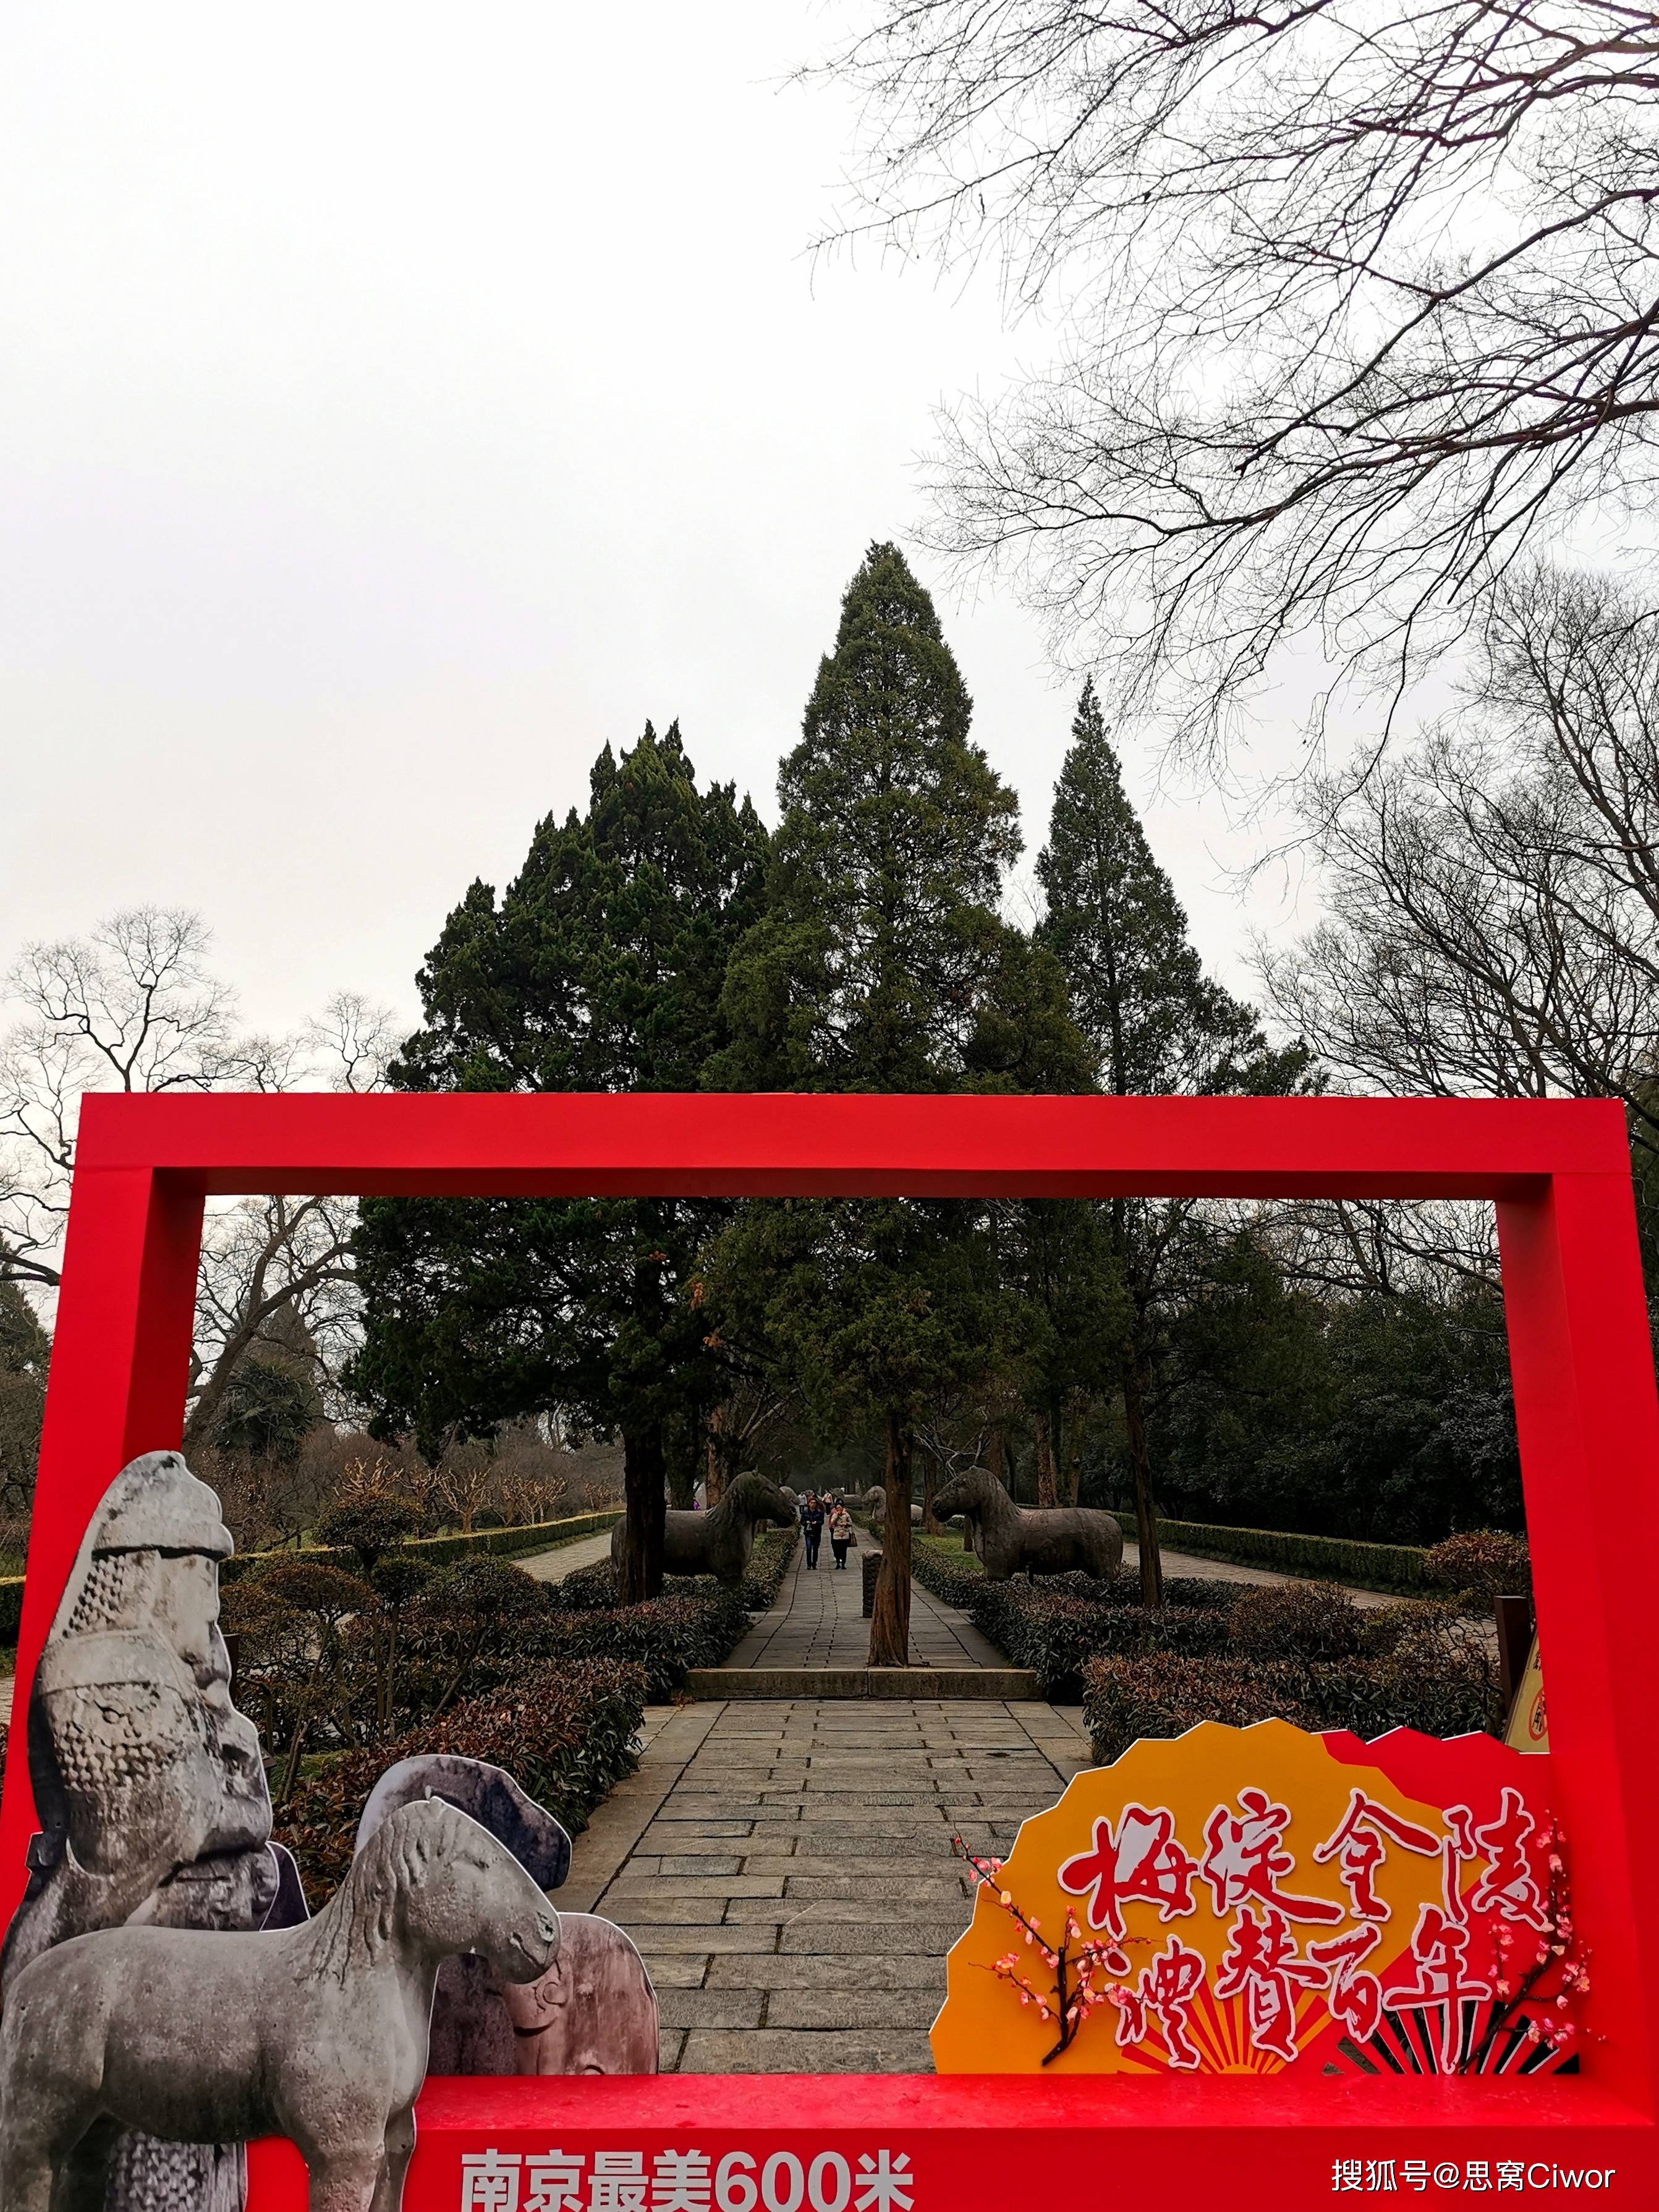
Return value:
M 414 1011 L 467 883 L 646 717 L 774 818 L 931 409 L 1040 343 L 989 283 L 807 259 L 854 117 L 781 80 L 834 20 L 13 0 L 0 964 L 155 900 L 261 1026 Z M 940 611 L 1035 849 L 1075 686 L 1011 599 Z M 1237 975 L 1243 843 L 1148 827 Z

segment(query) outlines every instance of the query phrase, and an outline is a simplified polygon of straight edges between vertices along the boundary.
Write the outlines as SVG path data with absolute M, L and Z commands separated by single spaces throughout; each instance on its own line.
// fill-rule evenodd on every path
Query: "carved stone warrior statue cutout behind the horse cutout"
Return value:
M 259 1736 L 230 1701 L 219 1500 L 177 1451 L 124 1467 L 82 1540 L 29 1697 L 42 1832 L 0 1989 L 69 1936 L 124 1922 L 257 1929 L 276 1898 Z M 104 2128 L 64 2212 L 241 2212 L 241 2143 Z

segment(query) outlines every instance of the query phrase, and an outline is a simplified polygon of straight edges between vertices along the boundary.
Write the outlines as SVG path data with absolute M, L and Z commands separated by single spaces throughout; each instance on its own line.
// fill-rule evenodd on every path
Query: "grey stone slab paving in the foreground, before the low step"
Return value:
M 951 1836 L 1006 1849 L 1084 1765 L 1044 1703 L 653 1708 L 560 1902 L 639 1944 L 664 2070 L 929 2073 L 971 1916 Z

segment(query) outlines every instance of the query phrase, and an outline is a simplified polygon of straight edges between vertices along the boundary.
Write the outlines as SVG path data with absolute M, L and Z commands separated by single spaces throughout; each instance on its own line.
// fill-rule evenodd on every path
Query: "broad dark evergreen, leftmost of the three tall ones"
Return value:
M 675 723 L 599 754 L 586 814 L 549 816 L 507 894 L 473 883 L 420 971 L 405 1091 L 695 1091 L 726 1044 L 732 945 L 759 914 L 765 832 L 697 787 Z M 425 1449 L 571 1409 L 622 1433 L 624 1599 L 661 1588 L 668 1451 L 723 1391 L 688 1283 L 719 1208 L 681 1199 L 383 1199 L 363 1210 L 380 1429 Z

